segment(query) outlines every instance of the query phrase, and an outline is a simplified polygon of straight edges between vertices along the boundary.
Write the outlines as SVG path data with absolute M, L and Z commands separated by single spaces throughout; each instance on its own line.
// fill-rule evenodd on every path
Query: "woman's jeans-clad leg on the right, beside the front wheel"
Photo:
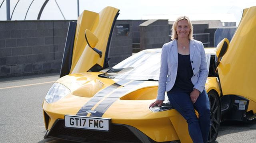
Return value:
M 196 111 L 199 113 L 199 125 L 202 131 L 204 143 L 207 142 L 210 130 L 210 102 L 206 91 L 204 90 L 194 104 Z

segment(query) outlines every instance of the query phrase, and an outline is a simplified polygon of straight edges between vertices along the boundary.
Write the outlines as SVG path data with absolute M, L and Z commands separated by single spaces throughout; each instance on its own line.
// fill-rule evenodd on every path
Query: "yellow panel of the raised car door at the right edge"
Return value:
M 256 6 L 244 10 L 242 20 L 220 60 L 223 95 L 240 95 L 256 102 Z M 250 105 L 249 105 L 250 106 Z M 256 108 L 250 108 L 256 113 Z

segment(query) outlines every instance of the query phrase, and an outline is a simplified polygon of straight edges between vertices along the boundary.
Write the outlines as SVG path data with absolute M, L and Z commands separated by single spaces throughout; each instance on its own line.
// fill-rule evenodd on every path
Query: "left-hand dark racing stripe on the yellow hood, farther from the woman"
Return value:
M 125 84 L 129 82 L 130 80 L 120 80 L 114 84 L 111 84 L 110 86 L 106 87 L 105 89 L 101 90 L 100 92 L 96 93 L 86 104 L 77 112 L 76 115 L 78 116 L 87 116 L 88 110 L 91 110 L 92 107 L 98 103 L 104 96 L 106 96 L 108 93 L 112 92 L 116 88 L 122 86 L 122 84 Z

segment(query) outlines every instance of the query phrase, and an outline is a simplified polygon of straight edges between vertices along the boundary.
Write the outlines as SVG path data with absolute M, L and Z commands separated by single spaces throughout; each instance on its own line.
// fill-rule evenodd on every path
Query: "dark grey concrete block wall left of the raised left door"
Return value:
M 0 77 L 60 71 L 68 21 L 1 21 Z

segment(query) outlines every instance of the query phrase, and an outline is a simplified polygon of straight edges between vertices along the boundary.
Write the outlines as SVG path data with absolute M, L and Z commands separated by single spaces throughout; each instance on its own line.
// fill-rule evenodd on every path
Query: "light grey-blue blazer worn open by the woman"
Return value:
M 204 45 L 200 41 L 190 40 L 190 62 L 194 75 L 191 78 L 193 89 L 202 93 L 208 77 L 208 68 Z M 164 94 L 174 86 L 178 71 L 178 47 L 177 40 L 165 43 L 162 47 L 161 66 L 158 82 L 157 100 L 164 100 Z

